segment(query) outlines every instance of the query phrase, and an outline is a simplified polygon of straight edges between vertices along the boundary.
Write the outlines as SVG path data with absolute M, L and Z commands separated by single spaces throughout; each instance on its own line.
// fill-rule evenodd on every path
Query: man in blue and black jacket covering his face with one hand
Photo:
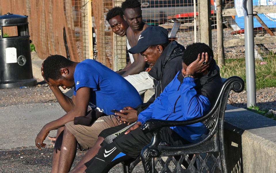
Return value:
M 148 119 L 185 121 L 208 113 L 222 87 L 219 68 L 209 58 L 211 56 L 212 49 L 204 43 L 188 45 L 182 58 L 182 70 L 160 96 L 138 115 L 137 122 L 131 128 L 118 134 L 112 143 L 102 143 L 97 155 L 85 163 L 85 172 L 108 172 L 122 161 L 137 158 L 152 139 L 150 133 L 144 134 L 139 128 Z M 169 145 L 184 145 L 199 141 L 206 132 L 207 128 L 202 123 L 196 123 L 163 127 L 160 137 Z M 107 151 L 111 152 L 107 154 Z

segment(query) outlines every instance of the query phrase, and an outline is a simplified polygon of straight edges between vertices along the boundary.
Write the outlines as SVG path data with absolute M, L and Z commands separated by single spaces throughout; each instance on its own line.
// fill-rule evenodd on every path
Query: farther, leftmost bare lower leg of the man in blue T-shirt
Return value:
M 57 129 L 57 140 L 55 142 L 54 152 L 53 152 L 53 161 L 52 161 L 52 171 L 51 173 L 57 173 L 58 171 L 58 162 L 60 158 L 60 147 L 62 144 L 64 127 Z

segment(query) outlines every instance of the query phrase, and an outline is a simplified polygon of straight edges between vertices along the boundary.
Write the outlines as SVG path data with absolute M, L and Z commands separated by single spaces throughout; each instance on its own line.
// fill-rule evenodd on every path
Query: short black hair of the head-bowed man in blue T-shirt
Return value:
M 70 67 L 73 64 L 73 61 L 68 60 L 64 56 L 51 55 L 43 61 L 41 66 L 43 66 L 44 77 L 49 82 L 49 78 L 53 80 L 63 79 L 60 69 Z

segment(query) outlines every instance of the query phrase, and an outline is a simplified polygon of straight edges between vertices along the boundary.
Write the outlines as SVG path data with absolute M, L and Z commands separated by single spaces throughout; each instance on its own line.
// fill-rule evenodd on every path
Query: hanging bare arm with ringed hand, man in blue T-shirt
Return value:
M 44 144 L 43 141 L 49 134 L 49 131 L 63 127 L 69 121 L 73 121 L 74 117 L 85 116 L 87 113 L 89 96 L 90 88 L 83 87 L 78 89 L 78 91 L 76 92 L 76 106 L 74 107 L 74 109 L 72 109 L 59 119 L 51 121 L 43 126 L 39 134 L 37 134 L 37 138 L 35 139 L 36 147 L 38 147 L 38 149 L 40 150 L 41 147 L 45 147 L 46 144 Z M 38 145 L 38 143 L 40 144 L 40 146 Z

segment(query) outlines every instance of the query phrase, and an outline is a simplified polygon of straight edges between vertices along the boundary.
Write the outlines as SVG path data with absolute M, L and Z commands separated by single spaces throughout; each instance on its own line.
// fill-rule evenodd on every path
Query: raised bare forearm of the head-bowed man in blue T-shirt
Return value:
M 74 109 L 75 105 L 72 99 L 64 95 L 58 87 L 49 85 L 49 88 L 52 90 L 58 103 L 66 113 Z

